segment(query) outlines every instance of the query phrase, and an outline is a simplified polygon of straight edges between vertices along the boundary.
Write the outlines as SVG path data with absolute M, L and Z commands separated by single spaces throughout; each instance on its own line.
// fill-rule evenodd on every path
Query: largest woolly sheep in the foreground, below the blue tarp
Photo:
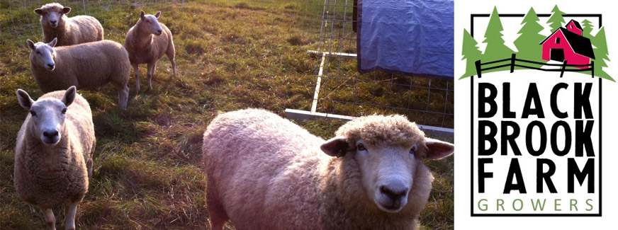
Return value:
M 347 122 L 325 141 L 265 110 L 218 115 L 203 136 L 212 229 L 416 229 L 432 188 L 422 162 L 454 145 L 402 115 Z

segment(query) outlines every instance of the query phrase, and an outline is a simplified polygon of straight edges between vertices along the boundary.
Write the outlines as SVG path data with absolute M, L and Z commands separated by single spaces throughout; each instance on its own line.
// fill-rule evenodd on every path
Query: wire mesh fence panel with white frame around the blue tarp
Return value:
M 454 82 L 356 70 L 356 1 L 324 0 L 312 112 L 407 115 L 421 125 L 454 127 Z

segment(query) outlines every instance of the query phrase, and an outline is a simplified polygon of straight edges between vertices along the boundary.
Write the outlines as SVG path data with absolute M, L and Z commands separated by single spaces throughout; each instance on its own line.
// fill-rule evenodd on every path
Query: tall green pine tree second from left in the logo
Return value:
M 510 58 L 511 54 L 514 53 L 509 47 L 505 45 L 505 40 L 502 39 L 502 22 L 500 22 L 500 16 L 498 16 L 498 8 L 493 8 L 493 12 L 489 18 L 489 24 L 487 25 L 487 29 L 485 30 L 485 40 L 484 43 L 487 44 L 485 47 L 485 52 L 483 53 L 482 59 L 485 62 L 492 62 L 498 59 Z M 483 68 L 488 68 L 492 66 L 498 66 L 500 64 L 504 64 L 502 62 L 490 64 L 488 66 L 483 66 Z M 491 71 L 502 71 L 510 69 L 510 67 L 501 67 L 497 69 L 490 69 L 486 72 Z

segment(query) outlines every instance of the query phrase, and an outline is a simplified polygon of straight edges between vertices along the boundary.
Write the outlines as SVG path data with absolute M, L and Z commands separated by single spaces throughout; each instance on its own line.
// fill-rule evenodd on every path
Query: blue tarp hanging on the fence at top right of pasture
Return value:
M 361 73 L 454 76 L 454 0 L 358 0 Z

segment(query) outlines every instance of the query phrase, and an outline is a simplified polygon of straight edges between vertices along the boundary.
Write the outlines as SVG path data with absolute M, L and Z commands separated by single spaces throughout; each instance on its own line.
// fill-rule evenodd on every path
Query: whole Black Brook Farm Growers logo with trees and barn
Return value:
M 601 95 L 613 81 L 602 16 L 556 6 L 471 18 L 461 77 L 471 78 L 471 215 L 601 216 Z M 518 28 L 510 46 L 507 26 Z

